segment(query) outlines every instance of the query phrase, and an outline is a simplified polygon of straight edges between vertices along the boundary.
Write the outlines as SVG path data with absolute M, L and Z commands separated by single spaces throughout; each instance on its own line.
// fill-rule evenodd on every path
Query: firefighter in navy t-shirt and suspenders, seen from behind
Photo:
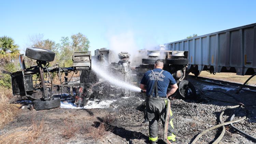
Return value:
M 167 113 L 167 98 L 170 97 L 178 88 L 173 76 L 163 69 L 163 61 L 156 60 L 154 69 L 147 71 L 141 82 L 140 88 L 146 91 L 146 111 L 149 120 L 149 140 L 151 144 L 158 141 L 158 121 L 161 119 L 165 127 L 165 117 Z M 171 89 L 167 92 L 168 85 Z M 173 112 L 170 110 L 168 125 L 168 140 L 177 142 L 176 132 L 172 123 Z

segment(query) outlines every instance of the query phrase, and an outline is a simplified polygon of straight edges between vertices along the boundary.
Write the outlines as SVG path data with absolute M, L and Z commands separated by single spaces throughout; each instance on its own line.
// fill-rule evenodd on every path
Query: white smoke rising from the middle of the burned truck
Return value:
M 118 62 L 118 53 L 120 52 L 128 52 L 131 55 L 131 66 L 139 66 L 142 64 L 142 58 L 147 58 L 147 50 L 138 46 L 133 32 L 127 31 L 111 35 L 109 38 L 110 61 Z M 147 46 L 147 49 L 153 49 L 154 47 Z

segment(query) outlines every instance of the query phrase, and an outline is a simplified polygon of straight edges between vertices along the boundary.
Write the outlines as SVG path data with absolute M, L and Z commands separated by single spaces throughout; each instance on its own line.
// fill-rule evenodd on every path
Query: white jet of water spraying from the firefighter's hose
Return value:
M 131 84 L 125 83 L 124 81 L 120 81 L 117 80 L 116 78 L 112 77 L 111 75 L 109 75 L 106 71 L 104 71 L 104 69 L 99 68 L 98 65 L 96 63 L 91 64 L 92 65 L 92 69 L 99 74 L 101 77 L 103 77 L 105 80 L 109 81 L 110 83 L 122 87 L 122 88 L 126 88 L 132 91 L 137 91 L 140 92 L 141 89 L 139 87 L 133 86 Z

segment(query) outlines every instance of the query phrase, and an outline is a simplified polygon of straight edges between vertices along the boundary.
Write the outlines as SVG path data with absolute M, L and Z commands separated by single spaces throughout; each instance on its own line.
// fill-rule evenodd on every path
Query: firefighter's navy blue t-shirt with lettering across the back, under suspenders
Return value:
M 161 71 L 162 69 L 158 69 L 158 68 L 153 70 L 155 75 L 158 75 Z M 146 90 L 147 90 L 146 94 L 150 95 L 155 83 L 155 77 L 152 74 L 151 70 L 147 71 L 144 74 L 140 83 L 143 85 L 146 85 Z M 165 97 L 167 93 L 168 85 L 174 85 L 174 84 L 176 84 L 176 81 L 174 80 L 171 73 L 169 73 L 168 71 L 163 71 L 157 82 L 158 95 Z M 155 95 L 156 95 L 156 91 L 154 91 L 154 96 Z

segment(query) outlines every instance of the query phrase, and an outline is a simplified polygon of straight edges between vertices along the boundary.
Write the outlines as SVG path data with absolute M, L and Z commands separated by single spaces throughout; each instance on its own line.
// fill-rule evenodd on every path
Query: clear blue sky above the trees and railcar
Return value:
M 256 1 L 2 1 L 0 36 L 24 49 L 43 34 L 59 42 L 81 32 L 97 48 L 142 49 L 256 23 Z

